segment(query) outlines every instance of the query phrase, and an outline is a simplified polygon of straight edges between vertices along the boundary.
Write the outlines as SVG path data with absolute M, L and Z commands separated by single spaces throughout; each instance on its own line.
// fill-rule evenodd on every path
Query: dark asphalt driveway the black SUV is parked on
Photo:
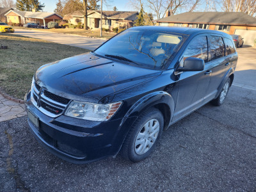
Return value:
M 225 103 L 172 125 L 140 163 L 117 156 L 70 164 L 38 144 L 26 116 L 1 122 L 0 191 L 255 191 L 256 49 L 238 51 Z

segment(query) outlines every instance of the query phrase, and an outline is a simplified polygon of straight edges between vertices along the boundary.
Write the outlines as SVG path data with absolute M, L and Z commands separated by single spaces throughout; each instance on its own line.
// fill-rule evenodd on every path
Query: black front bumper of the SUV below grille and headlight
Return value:
M 36 140 L 52 154 L 71 163 L 90 163 L 107 156 L 115 156 L 136 117 L 108 122 L 93 122 L 69 116 L 51 118 L 39 111 L 26 96 L 26 110 L 39 120 L 39 128 L 28 119 L 30 131 Z

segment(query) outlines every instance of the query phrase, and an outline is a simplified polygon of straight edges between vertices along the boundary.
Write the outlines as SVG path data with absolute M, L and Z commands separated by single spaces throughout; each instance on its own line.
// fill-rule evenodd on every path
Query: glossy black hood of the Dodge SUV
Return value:
M 99 102 L 102 97 L 159 76 L 161 72 L 127 65 L 92 53 L 40 67 L 35 81 L 61 97 Z

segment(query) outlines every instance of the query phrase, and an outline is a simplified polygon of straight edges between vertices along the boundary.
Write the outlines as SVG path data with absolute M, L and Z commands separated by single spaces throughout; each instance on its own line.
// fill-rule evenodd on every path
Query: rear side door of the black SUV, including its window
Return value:
M 225 74 L 232 64 L 230 56 L 225 54 L 225 44 L 220 35 L 209 35 L 210 61 L 212 75 L 205 100 L 212 100 L 218 92 Z

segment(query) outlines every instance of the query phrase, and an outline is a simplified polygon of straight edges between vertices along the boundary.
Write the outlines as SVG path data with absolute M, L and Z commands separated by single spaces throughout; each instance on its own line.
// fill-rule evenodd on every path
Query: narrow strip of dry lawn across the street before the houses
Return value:
M 33 29 L 33 28 L 23 28 L 23 27 L 13 27 L 14 29 Z M 33 30 L 40 30 L 40 31 L 51 31 L 56 33 L 66 33 L 66 34 L 73 34 L 73 35 L 82 35 L 82 36 L 89 36 L 89 37 L 97 37 L 100 38 L 100 31 L 93 31 L 93 30 L 84 30 L 84 29 L 33 29 Z M 113 32 L 106 32 L 102 31 L 102 38 L 111 38 L 112 36 L 116 35 Z

